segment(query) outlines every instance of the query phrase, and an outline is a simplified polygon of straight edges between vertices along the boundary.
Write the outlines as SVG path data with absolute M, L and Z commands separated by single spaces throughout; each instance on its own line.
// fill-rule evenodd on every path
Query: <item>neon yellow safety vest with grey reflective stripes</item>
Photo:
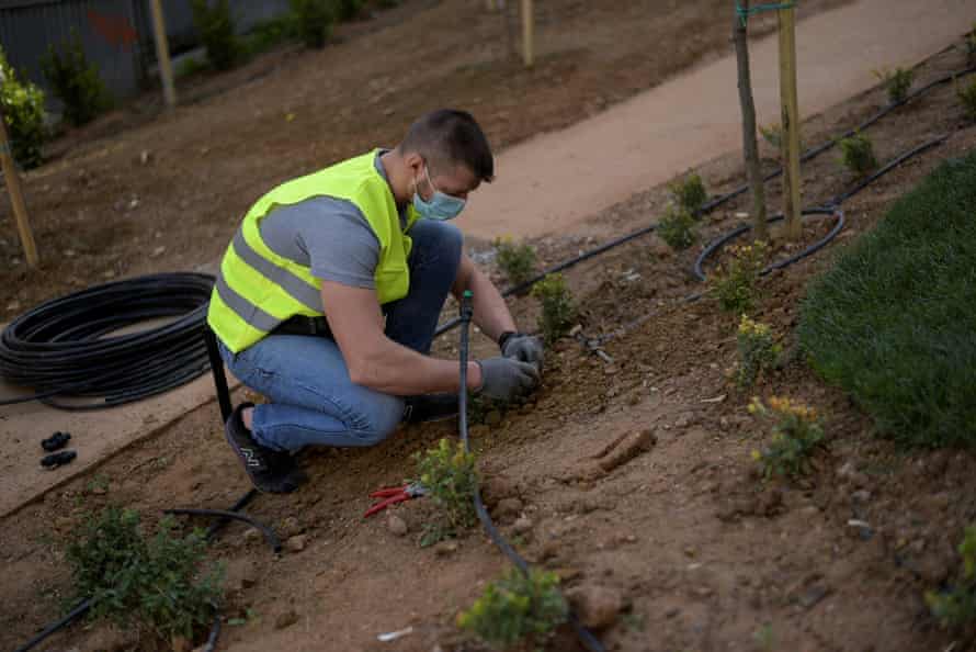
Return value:
M 272 251 L 261 238 L 261 220 L 277 206 L 315 196 L 352 202 L 379 241 L 376 299 L 384 304 L 407 295 L 412 241 L 406 232 L 419 215 L 409 205 L 406 228 L 400 228 L 393 192 L 374 164 L 378 151 L 282 183 L 247 212 L 220 261 L 207 313 L 207 323 L 228 349 L 237 353 L 248 348 L 295 315 L 325 314 L 321 280 L 310 268 Z

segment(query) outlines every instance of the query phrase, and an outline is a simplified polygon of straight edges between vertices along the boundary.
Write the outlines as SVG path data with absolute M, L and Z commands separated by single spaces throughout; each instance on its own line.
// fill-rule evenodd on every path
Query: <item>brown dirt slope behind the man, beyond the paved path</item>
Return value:
M 808 0 L 799 14 L 842 3 Z M 501 148 L 728 50 L 724 0 L 546 0 L 537 65 L 526 70 L 511 54 L 517 4 L 506 23 L 484 0 L 408 0 L 342 26 L 321 52 L 285 47 L 190 80 L 172 115 L 152 95 L 68 134 L 26 176 L 41 273 L 27 272 L 0 201 L 0 321 L 106 279 L 213 263 L 266 190 L 395 144 L 423 111 L 467 108 Z M 757 19 L 753 33 L 773 25 Z

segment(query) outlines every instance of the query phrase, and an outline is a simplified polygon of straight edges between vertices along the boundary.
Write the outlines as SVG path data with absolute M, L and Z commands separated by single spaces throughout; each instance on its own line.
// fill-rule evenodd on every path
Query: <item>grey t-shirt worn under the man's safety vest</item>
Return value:
M 379 161 L 373 165 L 386 179 Z M 406 211 L 400 211 L 400 225 Z M 268 247 L 288 260 L 311 268 L 311 274 L 353 288 L 374 289 L 379 262 L 379 240 L 352 202 L 315 196 L 297 204 L 279 206 L 261 220 L 261 238 Z

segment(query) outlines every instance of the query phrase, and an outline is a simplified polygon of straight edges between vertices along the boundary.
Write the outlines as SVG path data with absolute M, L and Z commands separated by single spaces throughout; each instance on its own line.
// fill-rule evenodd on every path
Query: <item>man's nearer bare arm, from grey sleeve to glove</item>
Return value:
M 458 390 L 457 362 L 422 356 L 386 337 L 375 290 L 322 281 L 321 295 L 352 382 L 397 396 Z M 481 369 L 475 362 L 468 362 L 467 385 L 470 390 L 481 385 Z

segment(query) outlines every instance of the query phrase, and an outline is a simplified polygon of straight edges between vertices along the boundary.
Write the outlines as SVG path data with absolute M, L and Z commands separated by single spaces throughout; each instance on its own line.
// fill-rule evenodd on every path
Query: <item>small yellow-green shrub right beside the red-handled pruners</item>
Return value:
M 474 495 L 478 483 L 475 456 L 464 451 L 461 441 L 441 439 L 436 448 L 415 453 L 420 484 L 430 492 L 440 519 L 423 528 L 420 546 L 427 547 L 475 525 Z

